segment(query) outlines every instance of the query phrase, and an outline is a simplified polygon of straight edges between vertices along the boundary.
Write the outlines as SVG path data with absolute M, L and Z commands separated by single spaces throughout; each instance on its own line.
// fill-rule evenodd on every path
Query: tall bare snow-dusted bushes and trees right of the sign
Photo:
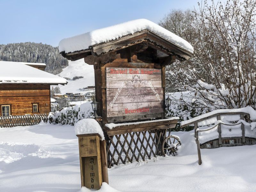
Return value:
M 199 9 L 190 15 L 178 15 L 191 18 L 190 27 L 182 28 L 180 34 L 193 31 L 194 40 L 188 41 L 195 52 L 186 62 L 166 66 L 166 92 L 169 87 L 189 91 L 190 100 L 181 96 L 179 102 L 189 108 L 190 116 L 193 110 L 255 109 L 256 1 L 208 2 L 198 4 Z M 162 23 L 167 29 L 175 23 L 175 14 L 171 16 Z

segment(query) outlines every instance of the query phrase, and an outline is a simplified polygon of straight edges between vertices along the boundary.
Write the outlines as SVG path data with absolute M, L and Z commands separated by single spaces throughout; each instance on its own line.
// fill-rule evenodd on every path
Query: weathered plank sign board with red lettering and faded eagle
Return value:
M 164 112 L 161 69 L 106 68 L 106 91 L 108 120 L 149 119 Z

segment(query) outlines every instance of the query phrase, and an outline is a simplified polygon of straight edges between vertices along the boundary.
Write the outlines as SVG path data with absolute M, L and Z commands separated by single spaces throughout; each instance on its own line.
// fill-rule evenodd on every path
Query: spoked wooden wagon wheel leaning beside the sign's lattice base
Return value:
M 178 146 L 181 145 L 180 139 L 176 135 L 170 135 L 166 137 L 162 144 L 162 151 L 166 155 L 176 155 Z

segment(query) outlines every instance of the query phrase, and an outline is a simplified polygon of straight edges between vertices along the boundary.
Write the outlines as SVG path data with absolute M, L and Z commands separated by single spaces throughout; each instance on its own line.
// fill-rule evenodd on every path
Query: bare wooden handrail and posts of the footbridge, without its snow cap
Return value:
M 180 126 L 180 128 L 186 127 L 188 125 L 194 124 L 194 130 L 195 130 L 195 139 L 196 139 L 196 146 L 197 146 L 197 154 L 198 154 L 198 164 L 201 165 L 202 164 L 202 157 L 201 157 L 201 150 L 200 150 L 200 142 L 198 139 L 198 132 L 205 132 L 205 131 L 209 131 L 215 127 L 218 126 L 218 133 L 219 133 L 219 145 L 222 145 L 222 138 L 221 138 L 221 124 L 225 124 L 223 122 L 218 122 L 217 124 L 215 124 L 214 126 L 204 129 L 204 130 L 200 130 L 198 128 L 198 123 L 202 122 L 206 119 L 210 119 L 212 117 L 216 117 L 217 116 L 217 121 L 220 120 L 221 115 L 240 115 L 240 119 L 244 120 L 244 116 L 248 116 L 248 119 L 250 119 L 250 115 L 248 113 L 244 113 L 244 112 L 225 112 L 225 113 L 217 113 L 217 114 L 213 114 L 210 116 L 205 116 L 203 118 L 195 118 L 194 121 L 191 121 L 187 124 L 182 124 Z M 242 130 L 242 143 L 245 143 L 245 131 L 244 131 L 244 124 L 242 122 L 238 122 L 235 124 L 228 124 L 229 126 L 234 126 L 234 125 L 238 125 L 241 124 L 241 130 Z

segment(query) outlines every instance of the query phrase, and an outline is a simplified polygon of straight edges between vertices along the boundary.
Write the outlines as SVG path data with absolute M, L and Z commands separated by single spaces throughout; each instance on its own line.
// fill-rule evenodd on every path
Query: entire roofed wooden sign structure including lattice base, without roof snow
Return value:
M 175 127 L 178 121 L 165 118 L 165 66 L 176 59 L 188 60 L 193 53 L 144 29 L 84 50 L 61 54 L 72 61 L 84 58 L 85 63 L 94 66 L 95 100 L 100 116 L 97 120 L 107 140 L 108 167 L 112 162 L 118 165 L 120 160 L 132 162 L 135 153 L 138 153 L 136 161 L 140 157 L 144 160 L 146 155 L 150 158 L 152 154 L 164 154 L 161 146 L 164 146 L 167 129 Z M 153 119 L 156 121 L 151 121 Z M 136 124 L 138 121 L 140 124 Z M 110 129 L 109 123 L 117 125 Z M 121 137 L 124 143 L 120 142 Z M 119 145 L 121 149 L 117 148 Z M 127 151 L 125 145 L 129 146 Z M 146 153 L 142 154 L 143 150 Z M 131 158 L 129 151 L 133 154 Z

